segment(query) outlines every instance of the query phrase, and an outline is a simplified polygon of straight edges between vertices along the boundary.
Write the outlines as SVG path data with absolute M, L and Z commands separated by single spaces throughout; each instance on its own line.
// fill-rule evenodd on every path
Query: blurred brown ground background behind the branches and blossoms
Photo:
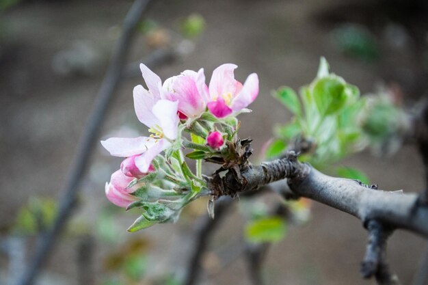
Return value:
M 298 90 L 310 83 L 321 56 L 362 94 L 384 85 L 407 107 L 426 95 L 428 4 L 423 0 L 153 2 L 138 26 L 129 63 L 173 47 L 179 55 L 153 68 L 162 79 L 203 67 L 208 82 L 213 69 L 226 62 L 239 66 L 235 77 L 241 82 L 256 72 L 260 94 L 250 106 L 253 112 L 240 117 L 240 137 L 254 139 L 254 163 L 273 126 L 291 118 L 271 90 L 281 85 Z M 0 0 L 1 284 L 12 284 L 37 234 L 51 224 L 131 4 Z M 133 87 L 142 83 L 139 70 L 131 68 L 100 139 L 142 133 L 132 100 Z M 129 234 L 126 228 L 138 212 L 125 213 L 104 195 L 120 159 L 99 144 L 91 161 L 72 218 L 38 284 L 180 284 L 194 245 L 193 226 L 206 215 L 206 200 L 192 203 L 176 224 Z M 414 144 L 383 157 L 364 151 L 340 164 L 358 167 L 381 189 L 425 187 Z M 250 284 L 240 245 L 246 222 L 241 213 L 251 205 L 237 204 L 213 235 L 197 284 Z M 266 284 L 374 284 L 359 273 L 365 246 L 360 221 L 314 203 L 308 221 L 289 226 L 286 237 L 269 250 Z M 403 284 L 412 282 L 423 252 L 425 240 L 409 232 L 390 239 L 390 265 Z

